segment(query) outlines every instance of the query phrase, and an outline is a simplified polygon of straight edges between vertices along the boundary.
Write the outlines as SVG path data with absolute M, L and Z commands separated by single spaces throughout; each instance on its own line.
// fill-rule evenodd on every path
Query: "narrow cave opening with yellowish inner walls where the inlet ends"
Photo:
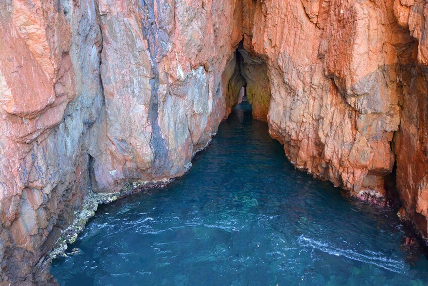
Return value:
M 270 83 L 266 62 L 244 48 L 243 40 L 233 53 L 222 75 L 226 117 L 244 97 L 252 106 L 253 118 L 267 121 Z

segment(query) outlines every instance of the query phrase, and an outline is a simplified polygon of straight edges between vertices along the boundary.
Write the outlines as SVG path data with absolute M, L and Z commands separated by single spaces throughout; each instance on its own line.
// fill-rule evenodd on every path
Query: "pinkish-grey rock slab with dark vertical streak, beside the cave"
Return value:
M 183 175 L 225 115 L 221 75 L 241 38 L 232 21 L 240 11 L 221 2 L 99 1 L 105 110 L 89 149 L 94 190 Z

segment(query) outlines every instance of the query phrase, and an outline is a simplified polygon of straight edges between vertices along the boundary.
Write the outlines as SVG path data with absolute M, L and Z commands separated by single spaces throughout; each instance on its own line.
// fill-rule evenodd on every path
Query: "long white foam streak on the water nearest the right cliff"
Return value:
M 406 265 L 403 261 L 388 258 L 385 256 L 385 254 L 379 252 L 366 251 L 369 253 L 369 255 L 361 254 L 350 249 L 336 248 L 328 243 L 307 238 L 303 234 L 299 236 L 297 241 L 303 247 L 317 249 L 330 255 L 343 256 L 352 260 L 369 263 L 401 274 L 405 272 Z

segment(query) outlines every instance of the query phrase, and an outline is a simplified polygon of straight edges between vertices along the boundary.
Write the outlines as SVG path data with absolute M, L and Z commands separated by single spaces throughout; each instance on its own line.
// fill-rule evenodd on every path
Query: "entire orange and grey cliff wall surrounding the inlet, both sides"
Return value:
M 26 281 L 88 188 L 181 176 L 245 86 L 290 160 L 363 199 L 396 163 L 428 234 L 428 45 L 411 0 L 0 4 L 0 265 Z

